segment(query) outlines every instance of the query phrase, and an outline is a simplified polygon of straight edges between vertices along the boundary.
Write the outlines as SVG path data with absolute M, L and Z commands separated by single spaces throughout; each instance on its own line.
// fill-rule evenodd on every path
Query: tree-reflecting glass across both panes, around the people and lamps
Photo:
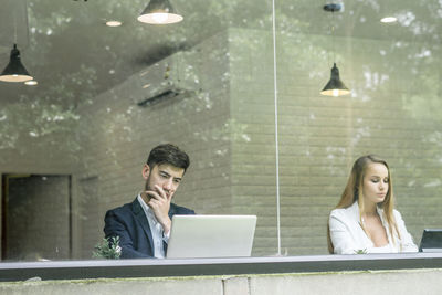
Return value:
M 185 19 L 161 27 L 136 20 L 140 0 L 7 2 L 25 3 L 18 40 L 39 84 L 0 84 L 3 261 L 91 259 L 104 213 L 143 189 L 139 164 L 166 141 L 191 158 L 175 201 L 256 214 L 253 255 L 277 253 L 269 1 L 173 1 Z M 344 2 L 344 97 L 319 95 L 334 60 L 329 15 L 307 0 L 275 7 L 283 255 L 327 253 L 329 211 L 365 154 L 390 164 L 415 243 L 442 226 L 441 3 Z M 6 65 L 13 25 L 0 28 Z

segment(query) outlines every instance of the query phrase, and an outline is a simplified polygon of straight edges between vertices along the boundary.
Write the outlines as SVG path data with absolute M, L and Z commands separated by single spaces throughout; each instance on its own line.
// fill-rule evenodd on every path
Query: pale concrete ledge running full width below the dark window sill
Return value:
M 243 276 L 97 278 L 0 283 L 0 294 L 442 294 L 439 270 L 298 273 Z

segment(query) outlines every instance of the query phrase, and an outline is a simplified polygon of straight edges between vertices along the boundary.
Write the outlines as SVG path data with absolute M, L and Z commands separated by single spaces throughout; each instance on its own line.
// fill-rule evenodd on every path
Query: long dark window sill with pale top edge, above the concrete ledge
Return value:
M 442 253 L 0 263 L 0 282 L 442 268 Z

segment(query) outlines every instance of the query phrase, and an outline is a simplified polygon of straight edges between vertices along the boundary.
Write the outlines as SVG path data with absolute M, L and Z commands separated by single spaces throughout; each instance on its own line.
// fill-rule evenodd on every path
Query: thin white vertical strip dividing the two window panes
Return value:
M 277 139 L 277 82 L 276 82 L 276 21 L 275 0 L 272 0 L 272 25 L 273 25 L 273 85 L 275 105 L 275 156 L 276 156 L 276 230 L 277 230 L 277 255 L 281 255 L 281 209 L 280 209 L 280 150 Z

